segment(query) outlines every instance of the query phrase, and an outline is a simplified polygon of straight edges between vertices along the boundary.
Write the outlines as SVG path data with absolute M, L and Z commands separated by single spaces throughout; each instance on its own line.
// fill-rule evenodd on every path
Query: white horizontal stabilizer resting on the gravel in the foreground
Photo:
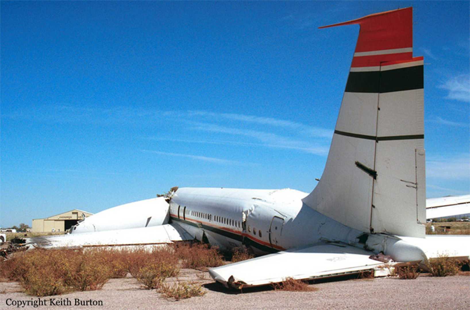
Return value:
M 370 259 L 374 255 L 360 248 L 321 243 L 252 258 L 243 262 L 209 269 L 211 277 L 225 285 L 240 289 L 293 279 L 318 279 L 371 270 L 383 262 Z

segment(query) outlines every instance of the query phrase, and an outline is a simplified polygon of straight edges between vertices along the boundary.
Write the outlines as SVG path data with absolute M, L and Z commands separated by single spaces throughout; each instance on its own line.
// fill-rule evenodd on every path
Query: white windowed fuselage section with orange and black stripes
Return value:
M 197 240 L 230 249 L 241 245 L 256 254 L 320 241 L 357 244 L 362 232 L 309 208 L 307 194 L 292 190 L 180 188 L 170 201 L 172 225 Z

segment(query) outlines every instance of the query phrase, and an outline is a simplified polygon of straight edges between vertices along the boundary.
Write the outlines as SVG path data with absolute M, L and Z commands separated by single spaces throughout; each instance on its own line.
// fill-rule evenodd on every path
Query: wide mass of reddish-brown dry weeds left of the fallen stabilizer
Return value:
M 152 250 L 93 248 L 78 250 L 33 249 L 15 253 L 0 262 L 0 278 L 18 281 L 28 295 L 60 295 L 71 291 L 99 290 L 110 278 L 129 272 L 147 289 L 162 289 L 175 300 L 204 295 L 191 283 L 163 287 L 164 280 L 184 268 L 224 264 L 217 248 L 205 244 L 180 244 Z M 204 277 L 203 277 L 204 278 Z

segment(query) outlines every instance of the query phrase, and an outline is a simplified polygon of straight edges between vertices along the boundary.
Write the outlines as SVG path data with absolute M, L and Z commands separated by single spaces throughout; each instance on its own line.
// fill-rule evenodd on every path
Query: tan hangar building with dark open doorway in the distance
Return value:
M 54 215 L 46 218 L 36 218 L 32 220 L 32 232 L 43 233 L 43 232 L 64 232 L 73 225 L 77 224 L 78 221 L 85 217 L 92 216 L 93 213 L 73 209 L 61 214 Z

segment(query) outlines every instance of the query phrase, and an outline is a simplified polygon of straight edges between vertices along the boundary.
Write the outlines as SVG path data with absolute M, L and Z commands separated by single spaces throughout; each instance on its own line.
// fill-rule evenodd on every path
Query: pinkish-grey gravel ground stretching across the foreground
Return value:
M 246 290 L 243 293 L 227 291 L 214 283 L 204 271 L 183 269 L 176 280 L 193 280 L 204 285 L 207 292 L 202 297 L 170 301 L 155 290 L 142 289 L 133 278 L 111 279 L 100 291 L 75 292 L 53 296 L 63 298 L 71 306 L 51 306 L 50 297 L 41 297 L 46 303 L 36 309 L 470 309 L 470 277 L 457 275 L 433 278 L 420 275 L 415 280 L 396 278 L 348 279 L 313 284 L 314 292 L 283 292 L 270 288 Z M 16 282 L 0 282 L 0 309 L 14 309 L 7 300 L 38 300 L 22 293 Z M 102 306 L 75 306 L 81 301 L 102 301 Z M 11 303 L 11 301 L 9 301 Z M 21 308 L 21 306 L 20 306 Z M 33 309 L 25 306 L 24 309 Z

